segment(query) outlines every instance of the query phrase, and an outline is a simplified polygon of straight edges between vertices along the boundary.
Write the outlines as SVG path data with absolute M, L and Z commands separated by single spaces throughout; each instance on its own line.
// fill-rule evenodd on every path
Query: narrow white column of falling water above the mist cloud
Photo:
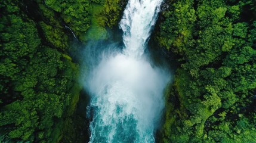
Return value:
M 162 0 L 130 0 L 119 27 L 124 31 L 124 52 L 140 57 L 155 25 Z

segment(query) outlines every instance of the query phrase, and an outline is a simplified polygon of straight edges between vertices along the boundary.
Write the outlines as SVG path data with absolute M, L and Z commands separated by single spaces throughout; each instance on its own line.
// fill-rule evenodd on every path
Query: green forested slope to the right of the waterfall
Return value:
M 249 0 L 169 2 L 157 39 L 181 66 L 166 92 L 164 142 L 256 142 L 255 13 Z

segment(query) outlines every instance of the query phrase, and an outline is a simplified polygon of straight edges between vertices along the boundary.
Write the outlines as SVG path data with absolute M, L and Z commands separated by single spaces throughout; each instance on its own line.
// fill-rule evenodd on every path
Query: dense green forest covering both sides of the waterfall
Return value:
M 79 51 L 126 4 L 0 1 L 0 142 L 88 142 Z M 157 142 L 256 142 L 256 1 L 165 0 L 150 41 L 177 63 Z

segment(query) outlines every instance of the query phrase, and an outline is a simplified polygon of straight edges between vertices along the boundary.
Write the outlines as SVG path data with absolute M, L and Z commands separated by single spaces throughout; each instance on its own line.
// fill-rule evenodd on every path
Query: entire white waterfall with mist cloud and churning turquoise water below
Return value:
M 102 54 L 90 71 L 90 142 L 155 142 L 169 74 L 152 67 L 143 53 L 160 5 L 161 0 L 130 0 L 119 23 L 124 49 Z

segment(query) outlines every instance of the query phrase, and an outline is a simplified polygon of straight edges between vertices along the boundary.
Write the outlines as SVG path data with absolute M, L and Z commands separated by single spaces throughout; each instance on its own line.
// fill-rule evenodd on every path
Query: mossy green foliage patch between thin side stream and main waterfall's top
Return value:
M 113 27 L 120 18 L 121 0 L 56 1 L 45 4 L 57 13 L 81 41 L 106 39 L 106 26 Z M 90 29 L 91 28 L 91 29 Z M 87 31 L 90 29 L 89 31 Z

